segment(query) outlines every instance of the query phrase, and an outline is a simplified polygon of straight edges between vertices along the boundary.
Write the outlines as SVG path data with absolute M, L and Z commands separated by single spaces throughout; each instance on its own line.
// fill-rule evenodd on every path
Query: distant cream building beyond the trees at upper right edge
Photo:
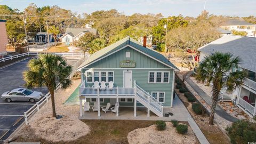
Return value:
M 255 34 L 256 25 L 253 23 L 249 23 L 243 20 L 227 20 L 222 22 L 221 28 L 226 30 L 236 30 L 236 31 L 244 31 L 247 33 L 247 36 L 253 37 Z

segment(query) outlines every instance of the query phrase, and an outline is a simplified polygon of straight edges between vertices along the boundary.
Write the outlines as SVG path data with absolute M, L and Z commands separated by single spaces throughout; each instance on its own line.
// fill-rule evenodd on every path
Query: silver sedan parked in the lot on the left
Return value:
M 29 89 L 19 88 L 4 92 L 1 99 L 7 102 L 12 101 L 29 101 L 36 102 L 43 98 L 42 92 L 31 91 Z

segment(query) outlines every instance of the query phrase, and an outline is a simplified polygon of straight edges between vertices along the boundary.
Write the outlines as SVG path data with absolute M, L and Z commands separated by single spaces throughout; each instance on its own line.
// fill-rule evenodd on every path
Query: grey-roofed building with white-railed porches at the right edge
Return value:
M 247 114 L 255 116 L 256 114 L 256 38 L 243 37 L 236 35 L 226 35 L 216 41 L 213 41 L 201 48 L 199 61 L 204 60 L 206 55 L 213 52 L 233 53 L 238 56 L 242 62 L 234 70 L 246 71 L 246 78 L 242 87 L 239 87 L 232 94 L 225 93 L 223 90 L 221 99 L 230 100 L 243 109 Z

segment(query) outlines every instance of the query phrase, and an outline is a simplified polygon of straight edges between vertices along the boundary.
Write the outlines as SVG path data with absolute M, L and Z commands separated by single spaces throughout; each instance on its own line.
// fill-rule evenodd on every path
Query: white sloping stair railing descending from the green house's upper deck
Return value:
M 161 102 L 157 101 L 154 97 L 152 97 L 152 95 L 141 89 L 141 87 L 138 86 L 136 82 L 134 82 L 134 87 L 136 88 L 137 97 L 148 103 L 151 108 L 154 108 L 158 113 L 163 115 L 163 104 Z

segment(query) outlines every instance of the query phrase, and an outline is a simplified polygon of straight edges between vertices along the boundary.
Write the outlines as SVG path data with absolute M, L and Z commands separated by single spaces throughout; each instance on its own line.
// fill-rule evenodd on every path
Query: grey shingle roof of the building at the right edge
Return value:
M 225 35 L 216 41 L 198 49 L 206 54 L 213 52 L 233 53 L 239 57 L 241 67 L 256 72 L 256 38 L 236 35 Z

